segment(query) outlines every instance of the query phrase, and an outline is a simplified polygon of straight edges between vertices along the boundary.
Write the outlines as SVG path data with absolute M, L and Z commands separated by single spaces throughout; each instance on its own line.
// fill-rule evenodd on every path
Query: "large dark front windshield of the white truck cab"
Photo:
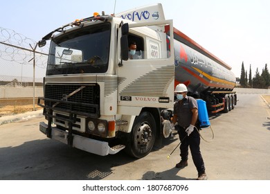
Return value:
M 47 76 L 105 73 L 108 69 L 110 25 L 74 30 L 51 41 Z

